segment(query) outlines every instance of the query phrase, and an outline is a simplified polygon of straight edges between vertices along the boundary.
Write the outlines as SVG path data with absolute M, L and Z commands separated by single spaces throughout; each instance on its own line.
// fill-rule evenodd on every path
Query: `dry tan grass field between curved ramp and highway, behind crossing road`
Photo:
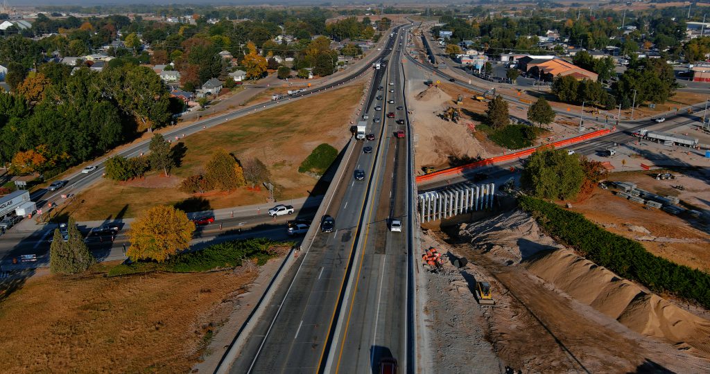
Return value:
M 202 172 L 214 150 L 221 147 L 240 160 L 261 159 L 278 185 L 279 199 L 306 196 L 317 180 L 299 173 L 298 165 L 321 143 L 342 149 L 350 136 L 349 121 L 363 89 L 361 84 L 350 85 L 188 136 L 183 140 L 187 150 L 182 165 L 172 174 L 181 180 Z M 266 202 L 267 197 L 266 192 L 246 188 L 192 196 L 178 190 L 179 180 L 165 187 L 158 175 L 148 175 L 147 179 L 151 178 L 157 180 L 155 186 L 144 181 L 103 180 L 77 195 L 74 202 L 63 208 L 62 214 L 72 214 L 75 219 L 86 221 L 136 216 L 158 204 L 187 202 L 182 206 L 188 210 L 207 210 L 258 204 Z M 203 209 L 205 207 L 207 209 Z

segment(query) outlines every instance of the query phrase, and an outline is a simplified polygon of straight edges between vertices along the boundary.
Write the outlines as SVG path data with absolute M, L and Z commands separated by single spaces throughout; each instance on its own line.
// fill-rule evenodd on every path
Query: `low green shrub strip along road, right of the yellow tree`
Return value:
M 244 260 L 257 260 L 263 265 L 273 258 L 275 246 L 288 246 L 288 243 L 272 241 L 266 238 L 254 238 L 239 241 L 227 241 L 213 244 L 202 251 L 184 252 L 173 256 L 164 263 L 137 261 L 114 266 L 109 270 L 109 277 L 148 273 L 151 271 L 169 271 L 174 273 L 196 273 L 219 268 L 241 266 Z

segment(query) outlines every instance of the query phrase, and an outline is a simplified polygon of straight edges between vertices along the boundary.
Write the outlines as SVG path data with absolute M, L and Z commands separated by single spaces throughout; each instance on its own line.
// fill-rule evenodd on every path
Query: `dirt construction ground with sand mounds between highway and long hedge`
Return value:
M 421 252 L 432 373 L 710 371 L 709 312 L 579 257 L 511 198 L 423 224 Z

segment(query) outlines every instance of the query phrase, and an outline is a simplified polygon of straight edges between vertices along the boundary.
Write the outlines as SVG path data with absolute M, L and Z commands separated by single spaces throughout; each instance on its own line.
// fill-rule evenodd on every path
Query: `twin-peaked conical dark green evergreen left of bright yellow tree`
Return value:
M 50 246 L 50 271 L 55 274 L 82 273 L 96 263 L 74 219 L 70 218 L 67 226 L 67 241 L 59 229 L 55 229 Z

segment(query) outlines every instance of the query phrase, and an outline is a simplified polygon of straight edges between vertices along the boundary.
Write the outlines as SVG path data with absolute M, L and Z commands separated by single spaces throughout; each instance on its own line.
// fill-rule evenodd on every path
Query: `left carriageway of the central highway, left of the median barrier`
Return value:
M 393 40 L 389 40 L 386 52 L 392 46 Z M 389 62 L 386 69 L 376 71 L 365 107 L 368 133 L 373 133 L 375 139 L 356 143 L 351 162 L 344 165 L 342 180 L 334 181 L 340 184 L 332 202 L 326 202 L 326 214 L 335 219 L 334 231 L 317 233 L 312 243 L 303 243 L 300 262 L 283 275 L 290 281 L 275 291 L 276 302 L 254 322 L 254 332 L 231 364 L 231 373 L 322 372 L 333 355 L 332 348 L 339 341 L 334 339 L 339 316 L 351 305 L 346 295 L 349 280 L 361 263 L 361 253 L 366 252 L 361 238 L 368 234 L 369 224 L 380 217 L 372 197 L 381 194 L 381 181 L 390 178 L 382 171 L 391 141 L 391 121 L 385 115 L 391 111 L 389 106 L 396 106 L 386 102 L 392 94 L 390 87 L 396 87 L 388 82 L 396 69 L 392 65 L 397 64 L 392 59 Z M 383 89 L 378 89 L 380 86 Z M 379 95 L 383 96 L 381 101 L 376 99 Z M 383 110 L 374 110 L 378 105 Z M 382 121 L 377 123 L 375 118 Z M 373 147 L 372 153 L 364 153 L 366 145 Z M 365 179 L 354 180 L 355 170 L 364 170 Z M 315 223 L 319 221 L 320 217 L 316 217 Z M 369 348 L 366 346 L 366 351 Z M 369 361 L 368 356 L 366 362 Z

